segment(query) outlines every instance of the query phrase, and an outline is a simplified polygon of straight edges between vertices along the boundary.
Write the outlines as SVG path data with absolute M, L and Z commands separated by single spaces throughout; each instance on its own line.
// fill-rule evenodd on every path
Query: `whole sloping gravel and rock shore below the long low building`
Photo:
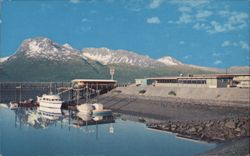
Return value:
M 246 141 L 250 136 L 248 90 L 240 90 L 241 94 L 234 94 L 233 100 L 215 100 L 167 96 L 168 92 L 162 94 L 163 90 L 159 96 L 143 95 L 136 89 L 118 87 L 96 100 L 117 113 L 136 116 L 148 128 L 172 132 L 182 138 L 218 144 L 212 154 L 207 152 L 203 155 L 216 155 L 216 152 L 222 152 L 220 155 L 249 153 L 249 141 Z M 148 92 L 149 90 L 147 88 Z M 218 90 L 212 89 L 211 92 L 218 93 Z M 225 90 L 223 94 L 228 93 Z

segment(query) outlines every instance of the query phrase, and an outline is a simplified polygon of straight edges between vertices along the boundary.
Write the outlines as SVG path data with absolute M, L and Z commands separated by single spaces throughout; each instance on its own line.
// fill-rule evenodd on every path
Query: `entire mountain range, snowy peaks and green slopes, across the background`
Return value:
M 155 60 L 135 52 L 108 48 L 86 48 L 81 52 L 69 44 L 60 45 L 44 37 L 24 40 L 14 55 L 0 60 L 0 81 L 109 79 L 110 67 L 115 68 L 114 78 L 120 83 L 144 77 L 222 72 L 216 68 L 186 65 L 169 56 Z

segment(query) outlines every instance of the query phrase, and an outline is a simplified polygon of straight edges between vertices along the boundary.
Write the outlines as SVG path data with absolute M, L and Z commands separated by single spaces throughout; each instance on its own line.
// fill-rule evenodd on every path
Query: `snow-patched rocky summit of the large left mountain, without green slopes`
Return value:
M 69 61 L 81 58 L 78 50 L 69 44 L 63 46 L 44 37 L 24 40 L 16 55 L 22 54 L 27 58 L 46 59 L 52 61 Z M 11 58 L 15 58 L 13 55 Z

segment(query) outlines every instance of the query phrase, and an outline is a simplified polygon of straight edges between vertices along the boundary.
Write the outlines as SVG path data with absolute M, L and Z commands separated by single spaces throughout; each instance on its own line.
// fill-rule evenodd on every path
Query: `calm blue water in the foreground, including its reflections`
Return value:
M 112 116 L 91 117 L 40 108 L 10 110 L 3 106 L 2 156 L 189 156 L 215 147 Z

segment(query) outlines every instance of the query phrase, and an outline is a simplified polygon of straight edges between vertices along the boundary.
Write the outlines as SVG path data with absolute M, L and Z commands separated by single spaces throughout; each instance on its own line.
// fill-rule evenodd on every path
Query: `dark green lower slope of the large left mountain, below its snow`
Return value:
M 3 63 L 0 72 L 0 81 L 70 81 L 109 77 L 107 66 L 95 61 L 54 62 L 23 57 Z

